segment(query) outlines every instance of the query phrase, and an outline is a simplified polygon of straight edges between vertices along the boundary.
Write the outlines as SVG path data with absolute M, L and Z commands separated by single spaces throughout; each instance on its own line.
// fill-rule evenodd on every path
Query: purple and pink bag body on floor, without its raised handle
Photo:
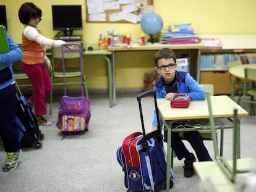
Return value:
M 61 131 L 87 131 L 90 121 L 90 102 L 84 96 L 62 96 L 56 126 Z

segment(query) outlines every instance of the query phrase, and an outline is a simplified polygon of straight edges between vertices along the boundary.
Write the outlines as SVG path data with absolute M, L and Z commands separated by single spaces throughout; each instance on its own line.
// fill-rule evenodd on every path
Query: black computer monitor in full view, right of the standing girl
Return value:
M 53 30 L 62 30 L 64 35 L 72 36 L 73 30 L 83 29 L 81 5 L 52 5 L 51 10 Z

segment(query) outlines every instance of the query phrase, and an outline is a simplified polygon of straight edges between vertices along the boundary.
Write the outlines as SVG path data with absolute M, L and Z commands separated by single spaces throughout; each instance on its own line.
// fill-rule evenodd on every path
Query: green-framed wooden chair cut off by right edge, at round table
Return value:
M 254 96 L 256 96 L 256 69 L 250 69 L 245 68 L 244 69 L 244 94 L 242 96 L 242 102 L 241 106 L 244 106 L 245 102 L 250 103 L 250 115 L 255 115 L 254 110 L 254 104 L 256 104 L 256 101 L 254 101 Z M 248 83 L 248 81 L 252 81 L 251 83 Z M 247 99 L 247 97 L 250 97 L 250 99 Z

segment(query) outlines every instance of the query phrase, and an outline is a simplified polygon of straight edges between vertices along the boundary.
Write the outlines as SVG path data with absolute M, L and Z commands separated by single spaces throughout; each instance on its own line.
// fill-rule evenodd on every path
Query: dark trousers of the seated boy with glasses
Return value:
M 184 139 L 189 141 L 190 145 L 197 154 L 198 161 L 212 161 L 205 144 L 203 144 L 202 136 L 198 133 L 198 131 L 184 132 Z M 164 131 L 164 141 L 166 140 L 167 131 Z M 190 152 L 187 150 L 177 132 L 171 133 L 171 147 L 179 160 L 190 156 Z

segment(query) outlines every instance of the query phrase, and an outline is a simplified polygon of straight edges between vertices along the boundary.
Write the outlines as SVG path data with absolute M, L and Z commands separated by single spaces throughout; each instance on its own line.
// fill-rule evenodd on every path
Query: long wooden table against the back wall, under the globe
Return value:
M 191 65 L 196 64 L 195 68 L 197 70 L 196 74 L 197 79 L 199 75 L 200 66 L 198 66 L 198 54 L 199 49 L 203 49 L 202 43 L 192 43 L 192 44 L 161 44 L 161 43 L 154 43 L 154 44 L 146 44 L 146 45 L 130 45 L 128 47 L 122 46 L 109 46 L 108 51 L 112 52 L 112 75 L 113 75 L 113 104 L 116 105 L 116 72 L 115 72 L 115 52 L 117 51 L 152 51 L 152 50 L 159 50 L 162 48 L 170 48 L 173 50 L 177 49 L 185 49 L 189 51 L 190 56 L 190 68 Z M 194 58 L 193 56 L 196 53 L 197 57 Z M 153 59 L 153 58 L 152 58 Z

